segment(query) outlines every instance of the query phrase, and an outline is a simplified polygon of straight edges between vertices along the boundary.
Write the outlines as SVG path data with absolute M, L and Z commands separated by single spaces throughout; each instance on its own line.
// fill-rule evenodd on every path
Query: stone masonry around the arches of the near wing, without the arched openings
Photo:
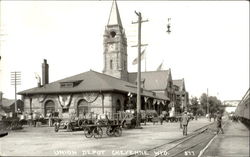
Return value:
M 39 112 L 45 114 L 45 104 L 48 101 L 53 101 L 55 104 L 55 111 L 62 115 L 63 105 L 65 105 L 59 98 L 60 94 L 50 95 L 33 95 L 24 96 L 24 112 Z M 67 96 L 67 95 L 64 95 Z M 69 94 L 68 94 L 69 96 Z M 116 112 L 117 101 L 120 101 L 121 109 L 124 109 L 125 96 L 115 93 L 79 93 L 71 94 L 71 101 L 68 105 L 69 111 L 66 114 L 77 113 L 77 107 L 81 100 L 86 100 L 89 107 L 89 112 L 94 114 L 107 114 L 112 116 Z M 31 104 L 31 105 L 30 105 Z M 67 107 L 66 107 L 67 108 Z M 63 113 L 65 115 L 65 113 Z

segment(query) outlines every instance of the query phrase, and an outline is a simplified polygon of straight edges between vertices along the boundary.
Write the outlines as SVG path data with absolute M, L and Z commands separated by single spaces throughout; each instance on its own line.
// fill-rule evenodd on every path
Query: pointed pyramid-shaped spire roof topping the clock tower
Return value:
M 118 6 L 116 0 L 113 1 L 112 7 L 109 14 L 108 25 L 119 25 L 122 27 L 122 21 L 119 14 Z

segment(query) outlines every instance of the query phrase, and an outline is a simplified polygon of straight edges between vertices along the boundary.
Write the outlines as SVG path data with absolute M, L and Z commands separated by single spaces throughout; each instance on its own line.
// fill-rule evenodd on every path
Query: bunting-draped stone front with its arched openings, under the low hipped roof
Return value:
M 69 113 L 84 116 L 87 113 L 107 114 L 124 109 L 125 96 L 112 93 L 82 93 L 82 94 L 48 94 L 24 96 L 24 112 L 38 112 L 45 116 L 51 112 L 58 112 L 62 117 Z

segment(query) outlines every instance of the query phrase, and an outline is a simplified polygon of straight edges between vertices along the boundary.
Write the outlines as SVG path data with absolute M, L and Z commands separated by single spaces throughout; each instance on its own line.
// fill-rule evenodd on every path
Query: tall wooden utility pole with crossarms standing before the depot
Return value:
M 141 44 L 141 23 L 142 22 L 148 22 L 148 20 L 143 21 L 142 20 L 142 16 L 140 12 L 136 12 L 135 14 L 138 16 L 138 21 L 137 22 L 132 22 L 132 24 L 136 24 L 138 23 L 138 44 L 137 46 L 134 47 L 138 47 L 138 72 L 137 72 L 137 115 L 136 115 L 136 126 L 140 127 L 140 113 L 141 113 L 141 46 L 146 46 Z M 145 53 L 145 52 L 144 52 Z

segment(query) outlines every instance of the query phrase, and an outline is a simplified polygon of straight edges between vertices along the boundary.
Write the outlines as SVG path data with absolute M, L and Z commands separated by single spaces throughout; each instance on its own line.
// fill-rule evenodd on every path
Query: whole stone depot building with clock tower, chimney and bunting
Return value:
M 86 113 L 112 115 L 136 108 L 137 73 L 127 70 L 127 38 L 116 1 L 113 1 L 103 35 L 103 73 L 93 70 L 49 83 L 49 65 L 42 64 L 42 84 L 21 91 L 24 112 L 59 112 L 68 116 Z M 141 109 L 158 113 L 176 105 L 176 91 L 186 92 L 184 85 L 174 85 L 171 69 L 142 72 Z M 187 92 L 186 92 L 187 93 Z M 188 95 L 185 95 L 188 99 Z M 184 100 L 183 100 L 184 101 Z M 188 102 L 188 101 L 187 101 Z

